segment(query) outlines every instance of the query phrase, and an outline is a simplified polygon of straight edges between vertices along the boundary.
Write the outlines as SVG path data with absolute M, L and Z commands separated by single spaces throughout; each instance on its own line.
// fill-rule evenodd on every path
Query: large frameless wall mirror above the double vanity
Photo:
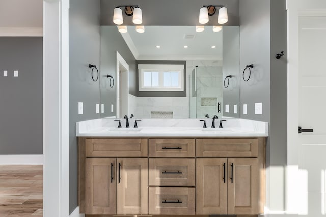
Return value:
M 101 26 L 101 117 L 239 118 L 239 49 L 239 26 Z

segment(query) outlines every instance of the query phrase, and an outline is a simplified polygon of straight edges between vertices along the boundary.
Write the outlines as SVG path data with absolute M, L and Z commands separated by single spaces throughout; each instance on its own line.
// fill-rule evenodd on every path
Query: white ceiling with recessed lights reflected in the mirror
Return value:
M 135 32 L 135 26 L 127 28 L 121 35 L 137 60 L 222 60 L 222 31 L 213 32 L 212 26 L 201 33 L 195 26 L 145 26 L 145 33 Z M 186 39 L 187 35 L 195 37 Z

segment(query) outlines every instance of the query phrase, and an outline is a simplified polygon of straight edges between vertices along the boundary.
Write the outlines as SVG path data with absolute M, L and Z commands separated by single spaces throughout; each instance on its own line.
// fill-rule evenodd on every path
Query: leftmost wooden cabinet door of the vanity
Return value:
M 86 214 L 116 214 L 116 159 L 86 159 Z

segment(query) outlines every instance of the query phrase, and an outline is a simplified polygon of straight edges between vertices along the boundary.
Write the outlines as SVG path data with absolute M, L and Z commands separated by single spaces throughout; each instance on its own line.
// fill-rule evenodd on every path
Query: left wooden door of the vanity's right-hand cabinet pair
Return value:
M 196 161 L 196 214 L 227 214 L 227 159 Z

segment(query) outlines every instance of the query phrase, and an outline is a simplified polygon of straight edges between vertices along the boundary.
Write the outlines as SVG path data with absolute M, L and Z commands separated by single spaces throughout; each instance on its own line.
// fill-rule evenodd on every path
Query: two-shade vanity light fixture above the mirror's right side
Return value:
M 199 10 L 199 23 L 206 24 L 209 21 L 208 16 L 213 16 L 216 12 L 216 7 L 220 7 L 218 23 L 224 24 L 228 22 L 228 10 L 223 5 L 203 5 Z

